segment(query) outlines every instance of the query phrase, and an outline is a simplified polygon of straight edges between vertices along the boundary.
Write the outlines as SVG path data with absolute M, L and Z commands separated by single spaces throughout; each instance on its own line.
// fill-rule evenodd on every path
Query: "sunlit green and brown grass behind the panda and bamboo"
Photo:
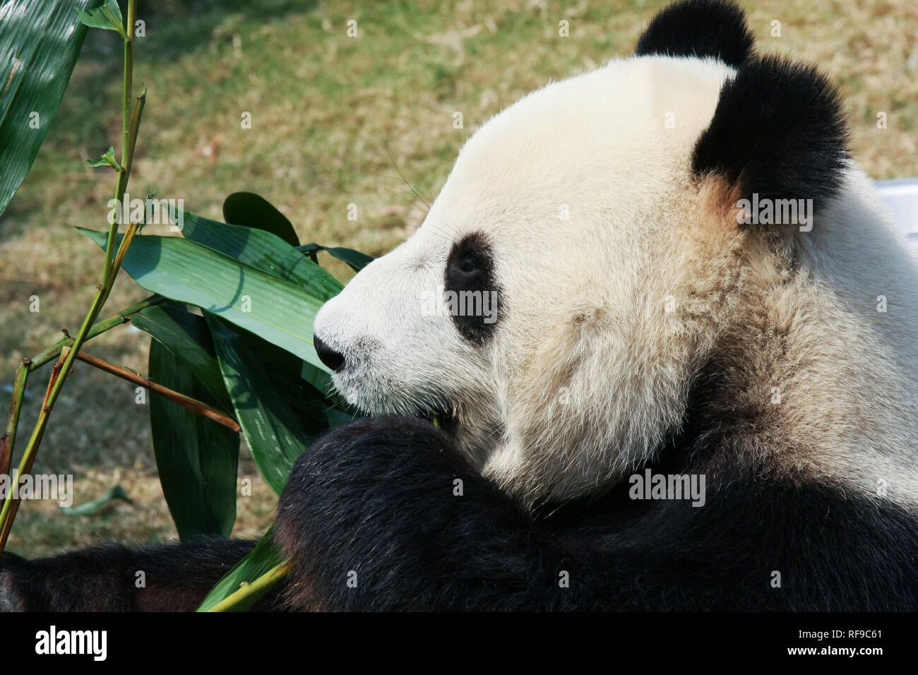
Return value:
M 308 3 L 160 0 L 140 3 L 146 37 L 135 82 L 146 84 L 131 189 L 183 198 L 220 216 L 230 193 L 266 197 L 303 242 L 385 253 L 419 225 L 398 170 L 433 196 L 476 125 L 522 94 L 633 50 L 657 1 Z M 918 175 L 918 5 L 908 0 L 743 3 L 759 51 L 816 62 L 845 97 L 856 158 L 876 178 Z M 347 36 L 355 19 L 358 37 Z M 570 37 L 558 22 L 570 22 Z M 772 22 L 781 36 L 771 37 Z M 101 253 L 69 225 L 106 227 L 111 172 L 82 168 L 118 141 L 117 36 L 91 31 L 27 181 L 0 217 L 0 405 L 17 363 L 74 331 L 95 292 Z M 464 129 L 453 128 L 460 111 Z M 877 129 L 879 112 L 887 129 Z M 241 116 L 251 113 L 252 129 Z M 359 219 L 347 219 L 356 204 Z M 342 264 L 334 274 L 350 276 Z M 29 298 L 39 296 L 38 313 Z M 146 294 L 122 274 L 103 316 Z M 149 339 L 130 327 L 87 351 L 146 372 Z M 19 449 L 48 370 L 30 380 Z M 133 504 L 72 517 L 27 502 L 10 550 L 29 557 L 107 539 L 166 541 L 175 531 L 156 477 L 146 406 L 133 387 L 78 366 L 63 389 L 34 467 L 73 473 L 74 503 L 120 483 Z M 235 535 L 261 534 L 274 496 L 255 478 Z

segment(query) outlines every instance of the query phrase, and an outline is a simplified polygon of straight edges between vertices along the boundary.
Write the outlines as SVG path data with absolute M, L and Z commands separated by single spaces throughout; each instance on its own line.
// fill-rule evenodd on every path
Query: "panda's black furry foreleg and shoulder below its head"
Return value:
M 624 486 L 532 516 L 430 423 L 354 422 L 308 449 L 281 499 L 277 536 L 297 559 L 287 600 L 333 610 L 918 609 L 913 517 L 782 476 L 742 450 L 724 436 L 670 444 L 658 470 L 706 474 L 700 508 L 631 501 Z

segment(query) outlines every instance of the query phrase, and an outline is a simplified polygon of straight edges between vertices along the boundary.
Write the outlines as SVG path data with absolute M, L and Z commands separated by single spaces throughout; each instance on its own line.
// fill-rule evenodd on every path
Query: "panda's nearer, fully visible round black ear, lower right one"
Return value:
M 733 202 L 723 208 L 738 198 L 812 199 L 819 208 L 838 192 L 849 160 L 841 100 L 812 66 L 747 62 L 723 84 L 691 159 L 692 173 L 719 181 Z

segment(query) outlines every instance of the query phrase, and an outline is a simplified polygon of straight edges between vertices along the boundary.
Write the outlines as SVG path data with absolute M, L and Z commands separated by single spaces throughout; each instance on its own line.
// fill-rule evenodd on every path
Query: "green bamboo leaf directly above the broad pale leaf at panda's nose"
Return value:
M 187 211 L 182 216 L 176 221 L 182 222 L 185 239 L 296 284 L 320 300 L 341 292 L 338 279 L 271 232 L 217 222 Z

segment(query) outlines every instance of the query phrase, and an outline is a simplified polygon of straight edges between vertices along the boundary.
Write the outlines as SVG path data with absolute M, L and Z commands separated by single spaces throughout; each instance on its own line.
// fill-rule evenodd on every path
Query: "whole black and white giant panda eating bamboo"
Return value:
M 478 129 L 320 310 L 371 416 L 297 462 L 261 606 L 918 609 L 916 289 L 834 87 L 669 6 Z M 193 609 L 252 546 L 6 554 L 0 602 Z

